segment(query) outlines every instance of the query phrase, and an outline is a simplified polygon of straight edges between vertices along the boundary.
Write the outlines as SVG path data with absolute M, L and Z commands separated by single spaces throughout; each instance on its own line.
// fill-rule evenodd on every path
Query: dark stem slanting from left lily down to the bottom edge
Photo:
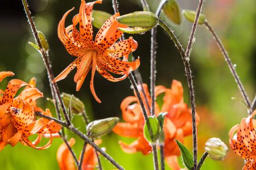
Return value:
M 100 154 L 102 156 L 104 156 L 110 163 L 112 163 L 115 167 L 117 167 L 118 169 L 123 169 L 123 167 L 121 167 L 121 165 L 119 165 L 117 162 L 115 162 L 115 160 L 108 155 L 106 152 L 104 152 L 100 147 L 98 147 L 95 143 L 93 143 L 93 141 L 91 141 L 91 139 L 89 139 L 86 135 L 82 134 L 81 131 L 77 130 L 72 124 L 68 125 L 67 123 L 57 120 L 54 117 L 50 117 L 50 116 L 46 116 L 40 112 L 35 112 L 36 116 L 38 117 L 43 117 L 46 118 L 47 120 L 53 120 L 55 121 L 57 124 L 60 124 L 62 126 L 64 126 L 65 128 L 71 130 L 74 134 L 76 134 L 79 138 L 81 138 L 82 140 L 86 141 L 90 146 L 92 146 L 95 150 L 97 150 L 98 152 L 100 152 Z

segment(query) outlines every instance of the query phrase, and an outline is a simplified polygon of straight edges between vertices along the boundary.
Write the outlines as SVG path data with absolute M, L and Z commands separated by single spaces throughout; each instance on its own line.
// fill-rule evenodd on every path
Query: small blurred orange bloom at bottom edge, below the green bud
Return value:
M 73 146 L 76 140 L 74 138 L 69 139 L 69 146 Z M 101 139 L 94 141 L 96 145 L 101 144 Z M 81 156 L 81 155 L 80 155 Z M 62 143 L 57 150 L 57 162 L 59 163 L 60 170 L 75 170 L 75 161 L 71 152 L 68 150 L 68 147 L 65 143 Z M 93 170 L 98 162 L 96 152 L 94 148 L 90 145 L 86 146 L 84 159 L 82 161 L 83 170 Z

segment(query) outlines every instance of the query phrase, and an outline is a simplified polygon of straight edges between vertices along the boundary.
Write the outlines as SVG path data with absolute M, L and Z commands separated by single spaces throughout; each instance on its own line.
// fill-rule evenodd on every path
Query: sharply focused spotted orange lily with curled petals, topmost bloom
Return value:
M 111 16 L 100 28 L 96 38 L 93 41 L 92 27 L 92 8 L 94 3 L 101 3 L 101 0 L 85 3 L 81 1 L 79 14 L 73 17 L 73 24 L 65 28 L 65 19 L 69 12 L 67 11 L 60 20 L 58 26 L 58 36 L 60 41 L 72 56 L 77 57 L 62 73 L 60 73 L 53 82 L 64 79 L 75 67 L 77 72 L 74 81 L 77 83 L 76 91 L 79 91 L 86 75 L 92 68 L 92 77 L 90 79 L 90 90 L 94 98 L 101 103 L 94 91 L 93 78 L 97 70 L 104 78 L 117 82 L 125 79 L 129 73 L 139 67 L 139 59 L 133 62 L 126 62 L 128 54 L 137 49 L 137 42 L 130 37 L 127 40 L 115 42 L 122 35 L 118 27 L 126 28 L 126 25 L 118 23 L 115 18 L 119 13 Z M 79 23 L 80 31 L 76 29 Z M 123 57 L 125 56 L 125 57 Z M 123 61 L 119 58 L 123 57 Z M 123 75 L 120 78 L 114 78 L 109 72 Z

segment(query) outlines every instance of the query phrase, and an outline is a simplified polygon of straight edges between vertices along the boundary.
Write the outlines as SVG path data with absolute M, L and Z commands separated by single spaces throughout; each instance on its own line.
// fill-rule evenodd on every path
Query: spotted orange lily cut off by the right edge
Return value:
M 246 160 L 244 170 L 256 169 L 256 121 L 253 120 L 255 114 L 256 111 L 249 117 L 243 118 L 240 125 L 233 126 L 229 131 L 230 147 L 238 156 Z

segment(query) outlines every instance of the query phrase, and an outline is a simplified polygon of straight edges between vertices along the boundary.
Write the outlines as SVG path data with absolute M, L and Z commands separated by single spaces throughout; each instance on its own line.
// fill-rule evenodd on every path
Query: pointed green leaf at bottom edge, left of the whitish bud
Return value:
M 181 142 L 177 141 L 176 139 L 175 139 L 175 141 L 180 148 L 181 158 L 182 158 L 182 161 L 183 161 L 185 167 L 187 167 L 189 170 L 192 170 L 194 167 L 192 154 L 188 151 L 188 149 Z

